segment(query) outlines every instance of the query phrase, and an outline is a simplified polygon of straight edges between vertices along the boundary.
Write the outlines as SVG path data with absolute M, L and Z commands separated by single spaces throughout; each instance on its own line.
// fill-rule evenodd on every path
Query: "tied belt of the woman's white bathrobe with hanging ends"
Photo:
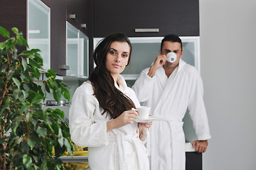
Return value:
M 110 142 L 117 142 L 117 149 L 119 152 L 119 168 L 120 170 L 125 170 L 125 152 L 124 152 L 124 143 L 123 141 L 127 141 L 130 142 L 133 146 L 134 149 L 137 150 L 137 158 L 138 160 L 142 160 L 142 152 L 145 152 L 145 150 L 143 150 L 143 148 L 145 148 L 144 146 L 140 146 L 143 145 L 142 142 L 139 141 L 138 139 L 138 134 L 135 133 L 134 135 L 116 135 L 116 136 L 110 136 L 109 137 Z M 145 148 L 146 149 L 146 148 Z M 138 161 L 138 166 L 139 169 L 143 169 L 142 167 L 144 166 L 140 161 Z

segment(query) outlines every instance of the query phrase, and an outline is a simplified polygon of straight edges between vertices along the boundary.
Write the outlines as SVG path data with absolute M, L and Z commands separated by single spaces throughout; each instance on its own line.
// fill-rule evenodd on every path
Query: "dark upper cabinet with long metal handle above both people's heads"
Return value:
M 115 32 L 129 37 L 199 35 L 198 0 L 94 1 L 94 37 Z

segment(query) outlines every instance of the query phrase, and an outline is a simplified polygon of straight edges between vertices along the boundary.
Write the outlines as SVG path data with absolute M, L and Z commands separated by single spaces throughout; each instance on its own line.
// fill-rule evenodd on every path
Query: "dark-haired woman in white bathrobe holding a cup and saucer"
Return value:
M 93 54 L 96 67 L 78 89 L 70 107 L 71 139 L 89 147 L 92 170 L 149 169 L 144 142 L 151 123 L 136 123 L 139 101 L 120 75 L 129 64 L 132 45 L 127 36 L 107 36 Z

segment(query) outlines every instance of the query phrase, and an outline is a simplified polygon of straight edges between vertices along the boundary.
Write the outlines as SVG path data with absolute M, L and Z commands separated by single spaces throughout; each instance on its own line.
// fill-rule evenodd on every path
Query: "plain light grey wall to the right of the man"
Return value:
M 256 169 L 256 0 L 199 0 L 212 139 L 203 170 Z

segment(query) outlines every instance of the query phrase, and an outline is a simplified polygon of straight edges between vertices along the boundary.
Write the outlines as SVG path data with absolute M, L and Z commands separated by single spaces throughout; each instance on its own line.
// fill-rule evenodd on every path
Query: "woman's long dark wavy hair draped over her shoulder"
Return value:
M 132 54 L 131 42 L 126 35 L 122 33 L 114 33 L 104 38 L 97 45 L 92 55 L 96 67 L 89 77 L 94 88 L 94 95 L 99 101 L 100 107 L 104 110 L 102 115 L 104 113 L 110 114 L 110 118 L 117 118 L 124 111 L 129 111 L 132 108 L 135 108 L 132 100 L 114 86 L 114 79 L 105 67 L 107 52 L 109 51 L 112 42 L 115 41 L 128 43 L 130 47 L 129 64 Z

